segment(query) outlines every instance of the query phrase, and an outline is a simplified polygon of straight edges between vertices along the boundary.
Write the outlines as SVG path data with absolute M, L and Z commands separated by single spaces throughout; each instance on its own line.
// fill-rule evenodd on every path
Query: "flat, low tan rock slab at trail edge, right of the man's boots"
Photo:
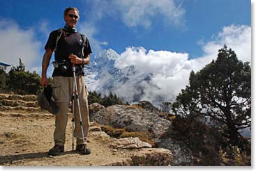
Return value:
M 140 140 L 140 138 L 120 138 L 118 140 L 114 140 L 110 144 L 110 147 L 113 147 L 115 149 L 121 148 L 121 149 L 140 149 L 140 148 L 151 148 L 152 146 L 147 143 Z

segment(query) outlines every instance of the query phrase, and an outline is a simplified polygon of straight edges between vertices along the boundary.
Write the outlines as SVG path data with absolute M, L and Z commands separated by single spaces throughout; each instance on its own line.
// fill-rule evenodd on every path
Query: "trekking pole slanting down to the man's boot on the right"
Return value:
M 77 80 L 75 78 L 75 65 L 72 65 L 72 70 L 73 70 L 73 86 L 75 86 L 75 93 L 74 93 L 74 100 L 73 100 L 73 108 L 75 109 L 75 99 L 77 99 L 77 106 L 78 106 L 78 113 L 79 113 L 79 117 L 80 117 L 80 125 L 81 125 L 81 129 L 82 129 L 82 140 L 84 142 L 84 129 L 83 129 L 83 124 L 82 124 L 82 115 L 81 115 L 81 110 L 80 110 L 80 103 L 79 103 L 79 98 L 78 98 L 78 90 L 77 90 Z M 74 88 L 73 88 L 74 90 Z M 85 142 L 84 142 L 85 144 Z

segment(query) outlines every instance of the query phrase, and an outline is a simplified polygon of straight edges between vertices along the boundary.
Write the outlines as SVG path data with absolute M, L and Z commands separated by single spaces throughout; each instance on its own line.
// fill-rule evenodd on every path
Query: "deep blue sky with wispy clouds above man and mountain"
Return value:
M 101 49 L 121 54 L 143 47 L 201 58 L 206 44 L 220 41 L 223 28 L 251 26 L 248 0 L 1 1 L 1 45 L 10 42 L 12 49 L 8 43 L 0 47 L 0 62 L 15 65 L 20 56 L 29 69 L 40 67 L 47 37 L 64 25 L 68 6 L 80 10 L 78 31 L 89 38 L 92 56 Z

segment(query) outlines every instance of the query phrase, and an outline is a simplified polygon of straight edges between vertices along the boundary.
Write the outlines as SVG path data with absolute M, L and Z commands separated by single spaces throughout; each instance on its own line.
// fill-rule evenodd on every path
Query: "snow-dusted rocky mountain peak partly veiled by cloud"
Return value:
M 102 95 L 112 92 L 128 103 L 151 99 L 152 104 L 158 105 L 174 99 L 174 95 L 170 95 L 168 99 L 158 95 L 161 88 L 153 81 L 156 75 L 142 72 L 135 65 L 121 69 L 116 65 L 119 58 L 120 55 L 113 49 L 103 50 L 95 56 L 93 63 L 86 65 L 84 72 L 89 90 Z

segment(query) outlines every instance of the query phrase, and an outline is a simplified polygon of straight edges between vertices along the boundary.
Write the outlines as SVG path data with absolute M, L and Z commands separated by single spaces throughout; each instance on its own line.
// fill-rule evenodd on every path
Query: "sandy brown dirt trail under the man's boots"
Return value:
M 109 147 L 110 139 L 100 131 L 90 131 L 90 155 L 72 151 L 72 122 L 69 114 L 65 152 L 47 156 L 53 147 L 54 116 L 49 113 L 0 112 L 0 165 L 89 166 L 121 165 L 134 151 Z

